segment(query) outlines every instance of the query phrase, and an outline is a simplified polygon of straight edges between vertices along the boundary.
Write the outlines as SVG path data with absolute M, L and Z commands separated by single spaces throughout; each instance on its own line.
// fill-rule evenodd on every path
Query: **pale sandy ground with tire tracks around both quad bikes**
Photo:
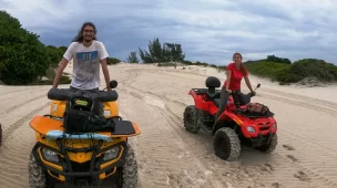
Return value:
M 226 163 L 215 157 L 211 136 L 190 134 L 182 122 L 185 106 L 193 104 L 188 90 L 205 87 L 207 75 L 224 80 L 223 73 L 193 66 L 110 69 L 111 77 L 119 81 L 121 113 L 141 126 L 142 134 L 131 138 L 140 187 L 337 187 L 336 86 L 294 88 L 252 76 L 254 85 L 262 83 L 253 101 L 276 114 L 278 147 L 272 155 L 244 148 L 239 161 Z M 28 123 L 33 115 L 49 112 L 49 88 L 0 86 L 1 188 L 29 187 L 27 161 L 34 134 Z

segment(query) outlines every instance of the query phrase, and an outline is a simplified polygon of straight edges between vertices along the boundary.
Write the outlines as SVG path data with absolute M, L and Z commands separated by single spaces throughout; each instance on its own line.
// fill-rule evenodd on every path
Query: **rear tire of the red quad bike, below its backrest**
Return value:
M 198 109 L 194 105 L 190 105 L 184 112 L 184 127 L 190 133 L 197 133 L 201 127 L 197 124 Z

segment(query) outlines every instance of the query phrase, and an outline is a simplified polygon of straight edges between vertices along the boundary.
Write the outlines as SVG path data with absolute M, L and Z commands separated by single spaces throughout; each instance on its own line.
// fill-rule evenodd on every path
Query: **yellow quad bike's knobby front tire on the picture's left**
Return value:
M 37 164 L 32 154 L 29 158 L 28 173 L 30 188 L 54 188 L 52 177 Z

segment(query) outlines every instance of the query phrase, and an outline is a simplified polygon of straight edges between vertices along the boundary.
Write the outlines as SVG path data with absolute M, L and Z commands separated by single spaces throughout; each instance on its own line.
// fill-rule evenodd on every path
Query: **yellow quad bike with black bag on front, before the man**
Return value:
M 116 81 L 110 86 L 115 88 Z M 31 188 L 92 187 L 114 180 L 120 188 L 137 187 L 137 163 L 127 137 L 141 133 L 134 122 L 119 116 L 118 93 L 71 92 L 51 88 L 50 114 L 30 122 L 37 144 L 29 160 Z M 92 113 L 93 102 L 104 105 L 104 117 Z

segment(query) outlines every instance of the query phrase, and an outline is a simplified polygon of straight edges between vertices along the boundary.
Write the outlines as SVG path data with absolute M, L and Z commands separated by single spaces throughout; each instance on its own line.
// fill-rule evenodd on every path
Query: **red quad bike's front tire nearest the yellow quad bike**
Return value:
M 224 160 L 236 160 L 241 153 L 241 142 L 234 129 L 222 127 L 216 130 L 213 139 L 215 155 Z

